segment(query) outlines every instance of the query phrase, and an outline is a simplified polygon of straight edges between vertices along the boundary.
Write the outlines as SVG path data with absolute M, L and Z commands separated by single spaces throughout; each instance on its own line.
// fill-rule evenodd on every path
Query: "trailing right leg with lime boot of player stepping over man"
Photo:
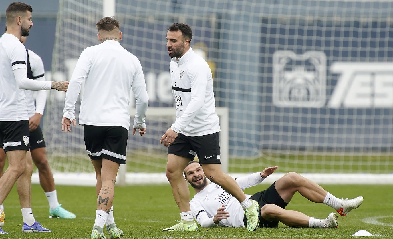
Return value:
M 240 202 L 247 218 L 247 230 L 255 231 L 259 226 L 259 204 L 255 200 L 247 199 L 235 179 L 222 172 L 220 164 L 202 164 L 202 168 L 206 178 L 220 185 Z

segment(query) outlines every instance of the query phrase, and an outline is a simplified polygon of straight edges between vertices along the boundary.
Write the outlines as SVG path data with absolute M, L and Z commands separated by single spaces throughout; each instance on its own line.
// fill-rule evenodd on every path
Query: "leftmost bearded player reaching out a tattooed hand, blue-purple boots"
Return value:
M 0 138 L 7 152 L 8 168 L 0 178 L 0 205 L 18 180 L 24 224 L 22 232 L 51 232 L 35 221 L 31 211 L 31 176 L 26 173 L 29 150 L 29 117 L 24 90 L 66 91 L 68 82 L 42 82 L 28 79 L 26 48 L 19 41 L 33 26 L 30 5 L 13 2 L 6 9 L 7 31 L 0 37 Z

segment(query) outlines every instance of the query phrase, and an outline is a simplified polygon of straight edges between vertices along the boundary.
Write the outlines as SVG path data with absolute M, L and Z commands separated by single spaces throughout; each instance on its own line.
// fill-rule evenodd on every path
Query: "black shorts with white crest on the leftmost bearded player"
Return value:
M 29 120 L 0 121 L 0 144 L 4 151 L 29 150 Z

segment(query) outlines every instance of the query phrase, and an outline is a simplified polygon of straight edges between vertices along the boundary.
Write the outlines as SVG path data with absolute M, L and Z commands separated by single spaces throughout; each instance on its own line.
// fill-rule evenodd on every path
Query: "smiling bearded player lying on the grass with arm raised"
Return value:
M 275 169 L 277 169 L 277 166 L 267 167 L 262 172 L 235 178 L 235 180 L 244 190 L 261 183 Z M 233 196 L 217 184 L 208 184 L 203 169 L 198 162 L 191 161 L 185 167 L 184 175 L 185 179 L 195 189 L 196 194 L 191 199 L 190 206 L 193 216 L 200 226 L 247 226 L 239 203 L 233 200 Z M 286 210 L 286 205 L 296 192 L 312 202 L 323 202 L 331 206 L 342 216 L 348 214 L 352 209 L 358 208 L 363 201 L 363 197 L 338 199 L 315 182 L 298 173 L 290 172 L 275 181 L 268 189 L 252 196 L 247 195 L 250 199 L 259 202 L 259 226 L 277 227 L 280 221 L 290 227 L 337 228 L 338 222 L 335 213 L 330 213 L 326 219 L 316 219 L 299 211 Z

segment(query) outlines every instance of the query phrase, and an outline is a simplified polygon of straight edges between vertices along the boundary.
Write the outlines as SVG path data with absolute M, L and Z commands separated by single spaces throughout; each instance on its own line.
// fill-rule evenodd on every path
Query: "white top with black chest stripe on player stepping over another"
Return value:
M 213 78 L 205 59 L 190 48 L 179 61 L 172 58 L 169 73 L 176 103 L 176 121 L 171 129 L 187 136 L 219 132 Z

